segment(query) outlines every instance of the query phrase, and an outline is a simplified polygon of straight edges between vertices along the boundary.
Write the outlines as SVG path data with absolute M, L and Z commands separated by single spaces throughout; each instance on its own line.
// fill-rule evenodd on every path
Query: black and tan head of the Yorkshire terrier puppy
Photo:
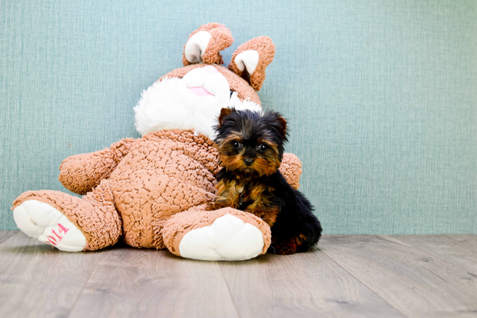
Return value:
M 215 126 L 220 165 L 238 176 L 271 175 L 280 166 L 288 141 L 280 113 L 222 108 Z

